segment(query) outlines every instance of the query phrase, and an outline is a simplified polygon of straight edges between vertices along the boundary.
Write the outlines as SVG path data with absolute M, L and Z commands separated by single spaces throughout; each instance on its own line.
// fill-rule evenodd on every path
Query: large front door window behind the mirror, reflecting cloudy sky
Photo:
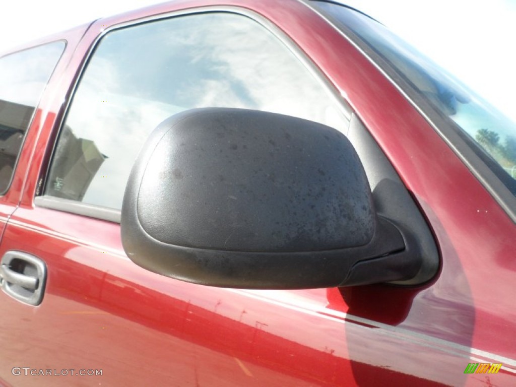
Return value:
M 160 122 L 196 107 L 347 120 L 301 61 L 243 15 L 199 13 L 108 33 L 79 81 L 45 195 L 120 209 L 133 162 Z

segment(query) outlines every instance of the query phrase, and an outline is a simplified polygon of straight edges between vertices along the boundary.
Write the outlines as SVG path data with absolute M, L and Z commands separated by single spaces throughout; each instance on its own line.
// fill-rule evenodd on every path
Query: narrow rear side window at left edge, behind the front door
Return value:
M 9 188 L 34 110 L 64 49 L 59 41 L 0 58 L 0 194 Z

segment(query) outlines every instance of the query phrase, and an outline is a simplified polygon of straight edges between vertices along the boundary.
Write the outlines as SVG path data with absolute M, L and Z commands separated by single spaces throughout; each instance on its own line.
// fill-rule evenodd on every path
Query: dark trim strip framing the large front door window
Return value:
M 313 61 L 300 49 L 300 47 L 294 42 L 294 40 L 289 38 L 276 24 L 272 23 L 270 20 L 260 15 L 259 13 L 236 6 L 205 6 L 192 9 L 171 11 L 163 14 L 152 15 L 146 18 L 140 18 L 136 20 L 123 22 L 120 24 L 109 26 L 103 31 L 101 31 L 101 33 L 91 43 L 89 50 L 85 55 L 85 59 L 83 60 L 82 65 L 80 66 L 80 68 L 77 71 L 77 74 L 75 75 L 74 84 L 70 88 L 70 97 L 65 102 L 66 106 L 63 109 L 62 114 L 60 115 L 60 119 L 56 120 L 55 123 L 54 130 L 57 131 L 57 134 L 52 143 L 52 152 L 49 152 L 48 158 L 46 158 L 46 160 L 43 161 L 43 165 L 46 165 L 46 168 L 42 168 L 38 177 L 38 181 L 42 182 L 43 187 L 41 187 L 41 189 L 38 189 L 36 197 L 34 198 L 34 204 L 36 206 L 120 223 L 120 211 L 115 208 L 108 208 L 95 204 L 83 203 L 68 199 L 61 199 L 49 195 L 41 195 L 41 192 L 45 191 L 45 184 L 47 183 L 47 177 L 49 176 L 49 171 L 52 165 L 54 152 L 56 149 L 57 142 L 59 140 L 59 133 L 61 132 L 63 124 L 65 123 L 68 111 L 73 101 L 73 96 L 75 95 L 80 79 L 82 78 L 84 71 L 88 66 L 88 63 L 92 58 L 100 40 L 111 31 L 127 27 L 133 27 L 143 23 L 200 13 L 234 13 L 247 17 L 255 21 L 256 23 L 260 24 L 273 36 L 275 36 L 286 47 L 287 50 L 292 52 L 292 54 L 301 62 L 301 64 L 314 76 L 315 80 L 321 85 L 321 87 L 328 92 L 328 97 L 331 100 L 333 100 L 334 106 L 340 109 L 341 113 L 346 118 L 349 124 L 352 116 L 352 108 L 343 98 L 341 93 L 338 92 L 335 86 L 331 84 L 330 80 L 326 78 L 324 73 L 322 73 L 322 71 L 315 65 L 315 63 L 313 63 Z

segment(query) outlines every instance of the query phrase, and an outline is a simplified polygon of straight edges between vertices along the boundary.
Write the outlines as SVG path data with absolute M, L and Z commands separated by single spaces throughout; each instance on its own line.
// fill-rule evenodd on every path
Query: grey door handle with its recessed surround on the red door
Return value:
M 39 305 L 43 300 L 46 265 L 38 257 L 21 251 L 8 251 L 0 265 L 2 290 L 14 299 Z

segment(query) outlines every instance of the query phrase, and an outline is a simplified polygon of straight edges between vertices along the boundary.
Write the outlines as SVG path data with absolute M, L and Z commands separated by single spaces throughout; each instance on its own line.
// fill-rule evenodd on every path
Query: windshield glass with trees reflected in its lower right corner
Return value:
M 516 123 L 387 28 L 347 7 L 314 2 L 350 28 L 447 120 L 516 196 Z

